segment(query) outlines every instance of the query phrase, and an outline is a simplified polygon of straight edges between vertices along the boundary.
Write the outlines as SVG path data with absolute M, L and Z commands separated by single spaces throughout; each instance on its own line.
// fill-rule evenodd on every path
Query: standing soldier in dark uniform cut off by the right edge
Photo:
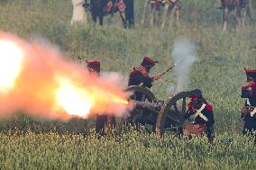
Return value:
M 245 70 L 247 82 L 242 86 L 241 97 L 246 101 L 242 108 L 241 118 L 244 121 L 242 133 L 256 130 L 256 69 Z

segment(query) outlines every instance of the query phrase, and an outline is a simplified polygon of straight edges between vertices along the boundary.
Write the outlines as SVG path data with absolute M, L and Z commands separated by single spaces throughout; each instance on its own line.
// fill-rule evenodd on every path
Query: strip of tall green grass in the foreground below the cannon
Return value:
M 250 138 L 178 139 L 131 130 L 103 139 L 56 133 L 0 133 L 1 169 L 255 169 Z

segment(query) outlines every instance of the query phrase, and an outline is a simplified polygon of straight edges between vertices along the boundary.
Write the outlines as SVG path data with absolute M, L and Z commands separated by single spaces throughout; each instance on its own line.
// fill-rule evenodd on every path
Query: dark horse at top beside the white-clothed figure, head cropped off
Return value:
M 97 22 L 98 18 L 101 26 L 105 15 L 117 12 L 121 16 L 124 28 L 131 28 L 134 25 L 133 0 L 91 0 L 89 5 L 87 2 L 85 4 L 90 6 L 93 21 Z

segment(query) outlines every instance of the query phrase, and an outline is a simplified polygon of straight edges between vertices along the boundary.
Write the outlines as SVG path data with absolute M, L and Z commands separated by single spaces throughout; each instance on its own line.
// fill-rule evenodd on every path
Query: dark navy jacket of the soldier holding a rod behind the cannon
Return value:
M 133 71 L 130 73 L 129 76 L 129 83 L 130 85 L 140 85 L 146 86 L 151 88 L 153 79 L 150 76 L 143 76 L 142 73 L 138 70 L 138 68 L 134 67 Z

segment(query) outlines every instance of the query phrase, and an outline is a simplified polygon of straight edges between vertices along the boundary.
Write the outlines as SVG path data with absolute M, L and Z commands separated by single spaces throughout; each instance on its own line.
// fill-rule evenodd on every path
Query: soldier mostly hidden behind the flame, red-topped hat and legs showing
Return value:
M 87 69 L 91 74 L 100 74 L 100 61 L 87 61 Z M 104 126 L 107 121 L 107 115 L 96 115 L 96 134 L 104 135 Z

